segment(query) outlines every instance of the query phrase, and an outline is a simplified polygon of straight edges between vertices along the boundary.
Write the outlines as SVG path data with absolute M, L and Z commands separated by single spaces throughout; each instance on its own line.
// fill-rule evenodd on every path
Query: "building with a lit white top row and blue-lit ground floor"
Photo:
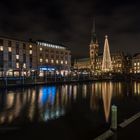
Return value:
M 47 41 L 36 41 L 37 63 L 40 71 L 55 70 L 57 73 L 69 71 L 71 67 L 71 51 L 63 45 Z

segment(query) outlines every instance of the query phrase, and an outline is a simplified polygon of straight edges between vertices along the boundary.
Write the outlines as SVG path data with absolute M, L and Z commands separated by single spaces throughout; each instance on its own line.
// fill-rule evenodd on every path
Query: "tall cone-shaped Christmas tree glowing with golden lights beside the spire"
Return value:
M 102 71 L 103 72 L 109 72 L 111 70 L 112 70 L 112 64 L 111 64 L 111 57 L 110 57 L 108 37 L 106 35 L 105 36 L 105 44 L 104 44 Z

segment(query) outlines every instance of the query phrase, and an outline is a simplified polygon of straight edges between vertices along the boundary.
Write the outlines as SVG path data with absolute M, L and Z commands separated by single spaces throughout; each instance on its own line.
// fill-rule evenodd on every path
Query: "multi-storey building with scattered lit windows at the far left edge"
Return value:
M 36 49 L 35 43 L 0 37 L 0 76 L 27 75 L 36 69 Z

